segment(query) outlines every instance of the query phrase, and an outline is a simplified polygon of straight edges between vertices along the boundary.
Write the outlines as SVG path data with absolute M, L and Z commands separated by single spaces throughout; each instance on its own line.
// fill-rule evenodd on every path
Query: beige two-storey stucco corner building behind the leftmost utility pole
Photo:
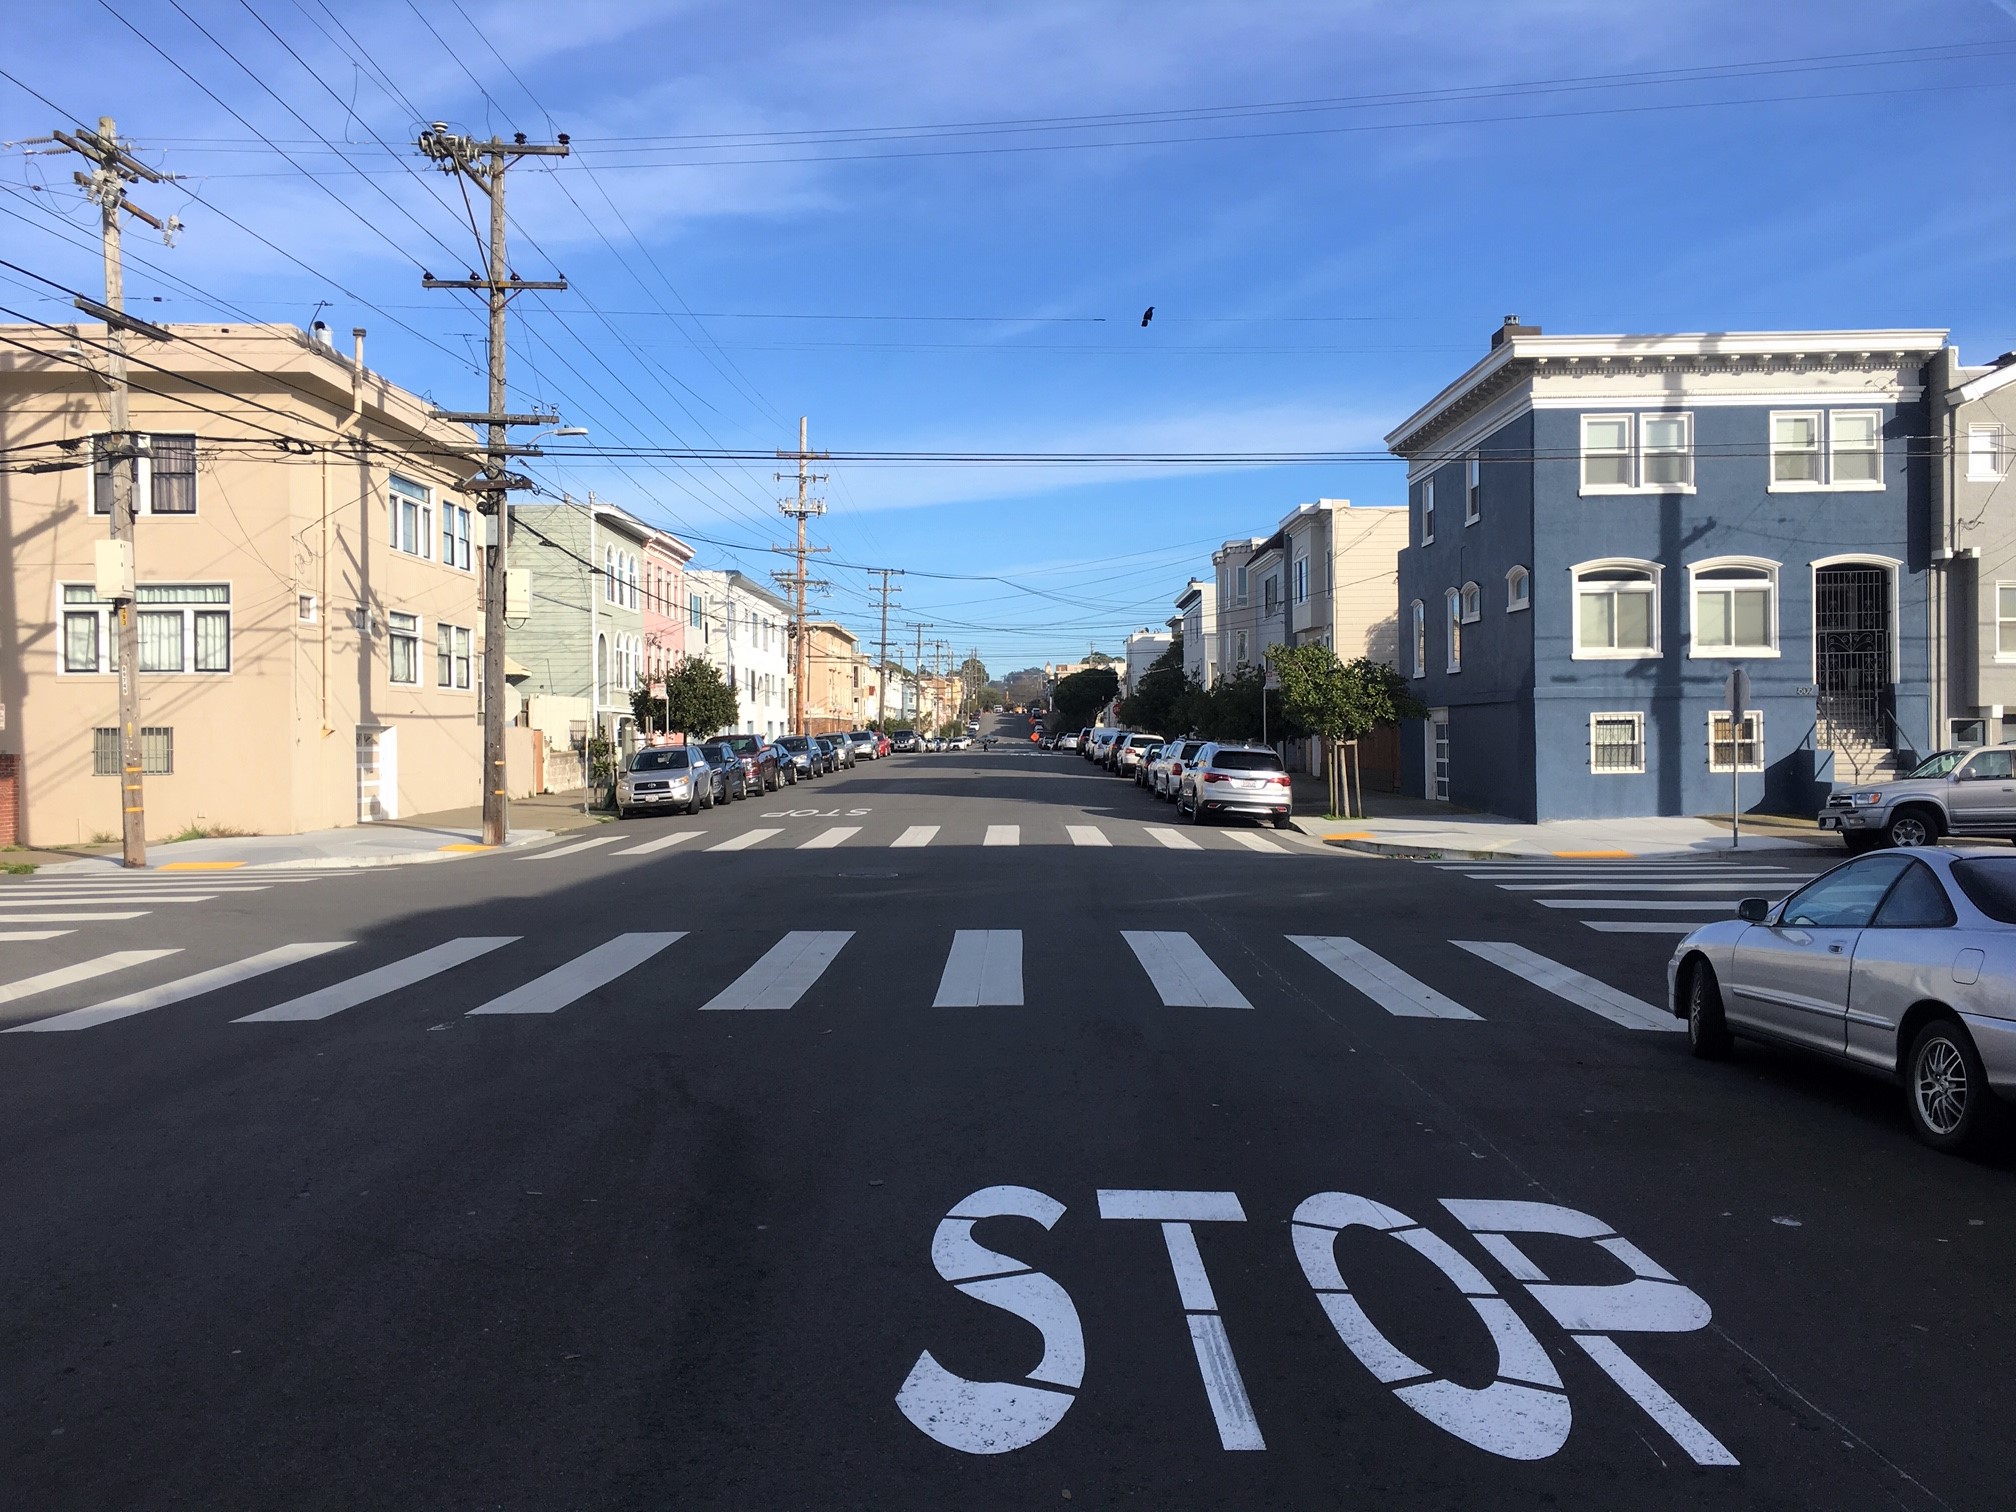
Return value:
M 127 337 L 149 839 L 478 802 L 486 520 L 468 429 L 282 325 Z M 107 343 L 0 349 L 0 758 L 18 839 L 119 833 Z M 0 764 L 6 764 L 0 760 Z

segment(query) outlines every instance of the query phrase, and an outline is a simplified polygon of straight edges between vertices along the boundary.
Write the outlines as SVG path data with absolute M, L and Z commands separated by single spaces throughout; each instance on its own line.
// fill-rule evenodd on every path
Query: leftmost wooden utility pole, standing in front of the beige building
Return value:
M 169 333 L 145 321 L 133 321 L 125 312 L 125 264 L 119 254 L 119 214 L 145 222 L 161 232 L 167 246 L 175 244 L 181 222 L 169 216 L 155 220 L 145 210 L 129 204 L 125 185 L 135 179 L 147 183 L 167 183 L 165 173 L 155 173 L 119 145 L 119 129 L 113 117 L 101 115 L 97 131 L 52 131 L 36 137 L 36 143 L 56 143 L 50 151 L 71 151 L 91 161 L 91 173 L 71 173 L 83 187 L 85 198 L 99 208 L 99 242 L 105 250 L 105 302 L 79 296 L 77 308 L 105 321 L 105 387 L 109 391 L 111 433 L 105 437 L 105 464 L 111 470 L 113 516 L 109 552 L 99 552 L 97 595 L 111 599 L 117 607 L 117 627 L 113 635 L 113 655 L 119 661 L 119 859 L 127 867 L 147 865 L 147 794 L 143 772 L 147 766 L 139 736 L 139 621 L 133 615 L 133 470 L 139 466 L 139 437 L 131 431 L 131 405 L 125 367 L 125 333 L 137 331 L 155 341 L 169 341 Z M 93 476 L 93 494 L 97 478 Z

